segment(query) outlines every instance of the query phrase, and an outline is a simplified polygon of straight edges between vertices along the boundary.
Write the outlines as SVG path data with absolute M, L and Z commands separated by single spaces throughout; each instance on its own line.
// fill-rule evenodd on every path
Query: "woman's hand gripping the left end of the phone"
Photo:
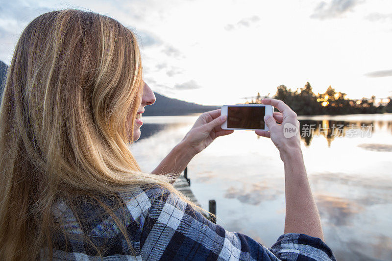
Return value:
M 205 149 L 215 138 L 228 135 L 234 130 L 223 130 L 221 124 L 227 116 L 221 117 L 221 109 L 205 112 L 199 116 L 192 129 L 185 135 L 182 142 L 196 155 Z

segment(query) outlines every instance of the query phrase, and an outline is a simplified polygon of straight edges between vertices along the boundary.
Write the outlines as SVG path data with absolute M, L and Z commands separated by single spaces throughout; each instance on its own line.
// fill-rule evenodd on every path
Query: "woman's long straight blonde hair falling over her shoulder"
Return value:
M 62 198 L 97 200 L 130 249 L 115 208 L 97 193 L 117 198 L 120 208 L 118 192 L 159 185 L 203 212 L 173 188 L 171 173 L 143 172 L 129 150 L 142 92 L 135 34 L 118 21 L 66 9 L 27 25 L 0 107 L 1 260 L 35 260 L 43 248 L 52 257 L 53 233 L 65 233 L 52 213 Z

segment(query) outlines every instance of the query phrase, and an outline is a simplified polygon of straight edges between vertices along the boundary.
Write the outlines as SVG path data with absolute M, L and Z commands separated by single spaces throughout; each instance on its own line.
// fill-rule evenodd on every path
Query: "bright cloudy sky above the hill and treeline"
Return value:
M 33 18 L 64 8 L 133 28 L 145 81 L 169 97 L 243 103 L 307 81 L 316 93 L 392 95 L 391 0 L 0 0 L 0 60 Z

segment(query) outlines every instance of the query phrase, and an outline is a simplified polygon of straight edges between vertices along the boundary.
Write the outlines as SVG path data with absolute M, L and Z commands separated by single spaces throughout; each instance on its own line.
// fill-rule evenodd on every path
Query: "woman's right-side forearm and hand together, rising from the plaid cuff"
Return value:
M 281 100 L 266 98 L 262 99 L 262 103 L 270 104 L 280 111 L 274 112 L 273 117 L 265 117 L 265 122 L 270 132 L 256 131 L 256 134 L 271 138 L 272 142 L 279 149 L 280 158 L 284 163 L 286 184 L 286 221 L 284 232 L 302 233 L 324 240 L 319 212 L 310 190 L 303 162 L 297 116 Z M 276 123 L 276 121 L 281 124 Z M 297 128 L 297 132 L 293 137 L 285 137 L 285 125 Z

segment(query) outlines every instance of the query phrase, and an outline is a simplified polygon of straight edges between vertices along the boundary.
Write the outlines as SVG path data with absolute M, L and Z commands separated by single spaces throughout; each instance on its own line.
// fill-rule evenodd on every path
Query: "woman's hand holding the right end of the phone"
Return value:
M 259 136 L 271 138 L 272 142 L 279 149 L 281 158 L 285 153 L 300 151 L 299 121 L 297 120 L 297 114 L 281 100 L 264 98 L 261 100 L 261 103 L 270 104 L 280 112 L 273 112 L 273 117 L 267 115 L 264 117 L 264 121 L 270 131 L 256 130 L 255 133 Z M 276 121 L 280 124 L 276 123 Z M 284 132 L 284 128 L 286 128 L 286 133 Z M 287 128 L 296 128 L 295 135 L 286 138 L 290 136 L 290 133 L 287 132 Z

